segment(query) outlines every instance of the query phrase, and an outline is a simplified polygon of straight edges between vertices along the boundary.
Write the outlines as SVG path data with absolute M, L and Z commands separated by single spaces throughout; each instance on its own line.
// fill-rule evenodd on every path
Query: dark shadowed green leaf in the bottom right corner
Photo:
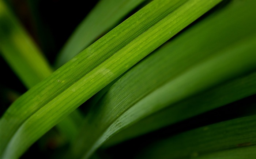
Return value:
M 255 156 L 256 151 L 252 152 L 255 145 L 256 116 L 253 115 L 200 127 L 160 140 L 145 148 L 138 155 L 138 158 L 200 158 L 201 155 L 202 158 L 211 155 L 230 158 L 229 156 L 236 154 L 232 149 L 246 146 L 253 146 L 246 148 L 246 151 L 248 155 L 252 156 L 253 154 Z M 243 149 L 240 150 L 244 151 Z M 229 156 L 223 156 L 226 153 L 229 153 Z

